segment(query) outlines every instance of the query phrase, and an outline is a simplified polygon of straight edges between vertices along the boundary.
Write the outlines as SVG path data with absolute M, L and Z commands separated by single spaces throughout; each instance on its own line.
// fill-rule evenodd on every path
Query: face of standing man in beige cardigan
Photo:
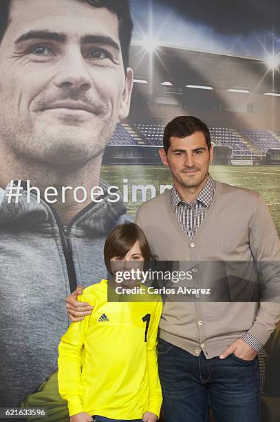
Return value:
M 167 155 L 161 149 L 160 157 L 169 166 L 175 187 L 200 188 L 208 176 L 213 147 L 209 151 L 203 132 L 194 132 L 182 139 L 171 137 Z

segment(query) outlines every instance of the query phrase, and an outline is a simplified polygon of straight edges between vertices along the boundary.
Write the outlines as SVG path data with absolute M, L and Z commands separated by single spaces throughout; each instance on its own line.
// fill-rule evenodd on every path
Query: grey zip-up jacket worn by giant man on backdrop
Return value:
M 0 407 L 17 405 L 56 370 L 69 324 L 66 297 L 76 283 L 107 277 L 105 238 L 127 219 L 124 203 L 109 203 L 106 194 L 63 228 L 47 203 L 28 203 L 23 192 L 9 204 L 6 192 L 0 190 Z

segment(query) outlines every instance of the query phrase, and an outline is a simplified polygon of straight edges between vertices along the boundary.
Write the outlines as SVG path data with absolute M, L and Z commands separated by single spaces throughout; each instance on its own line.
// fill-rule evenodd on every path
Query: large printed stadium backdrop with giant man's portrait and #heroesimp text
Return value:
M 56 388 L 66 298 L 107 277 L 109 231 L 172 188 L 159 150 L 175 117 L 208 125 L 211 176 L 259 192 L 280 235 L 280 3 L 0 3 L 3 408 Z M 279 347 L 277 325 L 262 422 L 279 421 Z

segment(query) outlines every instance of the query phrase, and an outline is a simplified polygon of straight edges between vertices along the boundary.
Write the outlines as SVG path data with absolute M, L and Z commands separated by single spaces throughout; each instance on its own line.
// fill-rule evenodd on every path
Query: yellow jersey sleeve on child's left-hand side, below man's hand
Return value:
M 95 305 L 94 299 L 86 294 L 80 295 L 78 301 L 88 302 L 91 306 Z M 61 397 L 67 400 L 69 416 L 84 412 L 80 374 L 89 318 L 90 315 L 87 315 L 83 321 L 71 323 L 67 332 L 61 336 L 61 342 L 58 345 L 58 390 Z

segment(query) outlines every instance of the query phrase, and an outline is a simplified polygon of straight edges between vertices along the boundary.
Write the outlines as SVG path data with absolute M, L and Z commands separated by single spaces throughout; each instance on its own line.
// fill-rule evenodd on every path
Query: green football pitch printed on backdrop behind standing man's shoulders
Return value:
M 280 235 L 280 165 L 211 165 L 210 172 L 219 181 L 257 190 L 268 204 Z M 172 184 L 169 169 L 163 165 L 105 165 L 101 177 L 109 185 L 118 186 L 120 192 L 125 186 L 130 215 L 134 215 L 142 203 L 140 191 L 132 201 L 133 185 L 153 185 L 159 194 L 160 185 Z M 151 192 L 147 191 L 147 199 L 150 198 Z

